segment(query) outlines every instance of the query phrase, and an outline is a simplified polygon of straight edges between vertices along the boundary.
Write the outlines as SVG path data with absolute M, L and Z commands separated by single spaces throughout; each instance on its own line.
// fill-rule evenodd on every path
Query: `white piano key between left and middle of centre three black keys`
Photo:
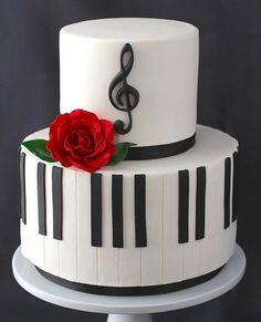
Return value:
M 97 247 L 98 284 L 119 285 L 119 250 L 113 248 L 112 176 L 102 177 L 102 247 Z

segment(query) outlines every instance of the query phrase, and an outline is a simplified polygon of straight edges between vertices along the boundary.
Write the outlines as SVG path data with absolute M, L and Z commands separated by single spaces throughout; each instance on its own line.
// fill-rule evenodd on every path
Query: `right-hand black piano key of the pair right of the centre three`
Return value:
M 206 167 L 197 168 L 196 240 L 205 238 Z

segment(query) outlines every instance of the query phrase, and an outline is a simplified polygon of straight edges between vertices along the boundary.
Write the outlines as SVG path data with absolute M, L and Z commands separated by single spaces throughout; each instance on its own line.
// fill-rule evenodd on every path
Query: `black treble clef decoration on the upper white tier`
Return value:
M 121 52 L 121 72 L 116 74 L 108 87 L 108 97 L 115 108 L 128 114 L 128 125 L 122 120 L 114 122 L 114 129 L 118 134 L 127 134 L 133 126 L 132 111 L 137 106 L 139 93 L 127 84 L 127 76 L 133 67 L 134 53 L 129 43 L 125 43 Z M 122 86 L 116 89 L 122 82 Z M 115 95 L 114 94 L 115 91 Z M 123 100 L 125 98 L 125 100 Z

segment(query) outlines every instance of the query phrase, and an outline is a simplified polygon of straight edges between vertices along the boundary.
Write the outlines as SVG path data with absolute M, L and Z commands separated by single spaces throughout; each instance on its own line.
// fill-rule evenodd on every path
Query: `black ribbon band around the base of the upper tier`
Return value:
M 169 144 L 129 147 L 125 160 L 154 159 L 178 155 L 192 147 L 195 142 L 196 133 L 188 138 Z

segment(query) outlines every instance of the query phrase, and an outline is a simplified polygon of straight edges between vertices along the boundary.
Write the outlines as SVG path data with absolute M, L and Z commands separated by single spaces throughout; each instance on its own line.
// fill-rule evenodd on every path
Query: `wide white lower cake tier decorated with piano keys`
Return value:
M 46 139 L 48 129 L 25 141 L 35 138 Z M 22 147 L 20 179 L 24 257 L 100 293 L 202 277 L 233 253 L 238 143 L 220 131 L 198 126 L 186 153 L 94 174 Z

